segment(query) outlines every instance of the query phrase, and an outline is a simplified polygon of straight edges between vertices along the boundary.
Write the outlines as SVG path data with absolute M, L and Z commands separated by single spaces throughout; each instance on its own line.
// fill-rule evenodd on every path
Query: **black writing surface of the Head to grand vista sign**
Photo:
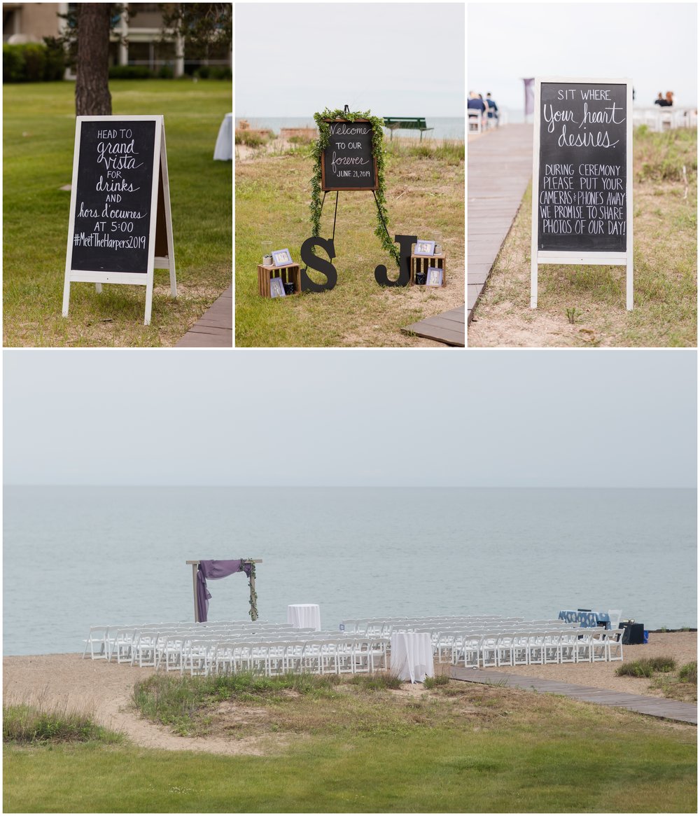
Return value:
M 69 268 L 148 272 L 156 122 L 80 122 Z

